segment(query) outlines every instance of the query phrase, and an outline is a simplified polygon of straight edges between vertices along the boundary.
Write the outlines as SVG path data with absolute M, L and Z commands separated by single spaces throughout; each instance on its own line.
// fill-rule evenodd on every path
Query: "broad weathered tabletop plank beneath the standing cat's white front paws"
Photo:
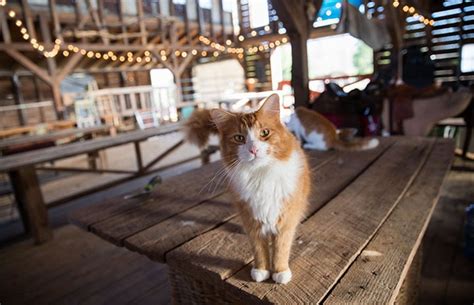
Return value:
M 431 140 L 400 138 L 336 198 L 300 228 L 288 285 L 249 281 L 250 266 L 227 283 L 244 294 L 269 303 L 316 303 L 338 281 L 390 211 L 424 163 Z

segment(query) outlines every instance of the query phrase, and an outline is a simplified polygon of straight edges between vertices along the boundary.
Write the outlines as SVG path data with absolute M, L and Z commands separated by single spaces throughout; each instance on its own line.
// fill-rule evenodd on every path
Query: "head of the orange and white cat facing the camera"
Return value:
M 265 166 L 274 160 L 286 160 L 292 152 L 294 139 L 280 121 L 280 101 L 276 94 L 266 98 L 252 113 L 214 109 L 211 115 L 228 165 L 240 161 Z

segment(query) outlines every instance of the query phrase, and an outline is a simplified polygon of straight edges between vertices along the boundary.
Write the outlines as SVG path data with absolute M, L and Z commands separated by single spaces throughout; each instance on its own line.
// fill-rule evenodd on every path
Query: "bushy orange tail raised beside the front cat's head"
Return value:
M 211 111 L 208 109 L 195 110 L 184 124 L 186 141 L 200 149 L 206 148 L 209 137 L 217 133 L 217 127 L 212 121 Z

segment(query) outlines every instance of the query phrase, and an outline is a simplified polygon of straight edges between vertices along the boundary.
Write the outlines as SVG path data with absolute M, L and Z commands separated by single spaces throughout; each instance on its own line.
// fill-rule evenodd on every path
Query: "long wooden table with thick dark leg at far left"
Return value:
M 40 183 L 36 174 L 36 170 L 50 170 L 50 171 L 69 171 L 69 172 L 93 172 L 93 173 L 115 173 L 128 174 L 122 179 L 118 179 L 109 185 L 101 185 L 94 190 L 100 190 L 105 187 L 124 182 L 131 178 L 149 174 L 155 169 L 152 166 L 166 157 L 174 149 L 179 147 L 183 140 L 177 141 L 171 148 L 158 155 L 154 160 L 148 164 L 143 164 L 140 150 L 140 142 L 157 135 L 164 135 L 172 132 L 177 132 L 181 129 L 181 123 L 173 123 L 163 125 L 157 128 L 150 128 L 147 130 L 139 130 L 119 134 L 116 136 L 102 137 L 84 142 L 76 142 L 65 144 L 61 146 L 48 147 L 24 153 L 0 157 L 0 172 L 8 173 L 10 182 L 13 187 L 15 199 L 18 204 L 18 210 L 23 221 L 25 232 L 31 232 L 35 241 L 41 243 L 49 240 L 52 237 L 51 229 L 48 226 L 47 207 L 43 200 Z M 57 166 L 43 166 L 44 163 L 64 159 L 81 154 L 96 153 L 100 150 L 111 148 L 118 145 L 133 143 L 135 147 L 135 154 L 137 158 L 137 170 L 125 171 L 104 168 L 74 168 L 74 167 L 57 167 Z M 191 159 L 200 158 L 197 156 L 181 162 L 190 161 Z M 90 192 L 90 191 L 87 191 Z M 81 193 L 80 195 L 84 195 Z M 78 197 L 79 194 L 67 198 Z M 61 201 L 62 203 L 62 201 Z M 54 206 L 59 203 L 50 203 L 48 206 Z

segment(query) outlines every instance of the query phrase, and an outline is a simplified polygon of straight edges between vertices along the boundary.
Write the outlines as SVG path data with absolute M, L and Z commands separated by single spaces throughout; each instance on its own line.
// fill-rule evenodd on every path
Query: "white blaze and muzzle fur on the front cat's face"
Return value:
M 259 167 L 269 164 L 273 157 L 271 156 L 270 145 L 261 141 L 257 135 L 259 130 L 250 128 L 247 131 L 245 144 L 240 145 L 238 148 L 237 155 L 239 160 L 242 162 L 251 162 L 253 166 Z M 255 148 L 257 154 L 251 153 L 251 150 Z

